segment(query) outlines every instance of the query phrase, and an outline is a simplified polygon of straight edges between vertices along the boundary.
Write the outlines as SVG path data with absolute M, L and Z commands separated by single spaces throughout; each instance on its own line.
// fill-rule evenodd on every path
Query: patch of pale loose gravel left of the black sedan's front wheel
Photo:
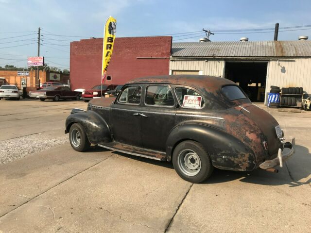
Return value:
M 68 142 L 68 135 L 51 138 L 51 136 L 44 135 L 44 133 L 0 141 L 0 164 L 5 164 L 23 158 L 28 154 L 48 150 Z

